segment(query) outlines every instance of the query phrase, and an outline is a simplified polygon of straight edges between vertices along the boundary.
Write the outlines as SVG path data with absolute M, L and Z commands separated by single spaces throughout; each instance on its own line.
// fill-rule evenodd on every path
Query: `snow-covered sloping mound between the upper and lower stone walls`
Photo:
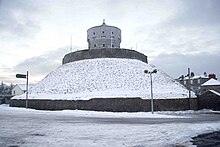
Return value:
M 29 90 L 29 99 L 150 99 L 152 67 L 135 59 L 100 58 L 61 65 Z M 188 90 L 164 72 L 153 74 L 154 99 L 186 98 Z M 25 95 L 14 99 L 23 99 Z

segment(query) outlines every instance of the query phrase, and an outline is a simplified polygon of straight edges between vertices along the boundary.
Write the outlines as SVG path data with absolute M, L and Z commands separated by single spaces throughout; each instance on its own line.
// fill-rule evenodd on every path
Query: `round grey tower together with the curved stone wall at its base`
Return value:
M 105 22 L 87 30 L 87 42 L 88 49 L 66 54 L 62 64 L 96 58 L 137 59 L 148 63 L 147 56 L 144 54 L 120 48 L 121 30 L 115 26 L 109 26 Z

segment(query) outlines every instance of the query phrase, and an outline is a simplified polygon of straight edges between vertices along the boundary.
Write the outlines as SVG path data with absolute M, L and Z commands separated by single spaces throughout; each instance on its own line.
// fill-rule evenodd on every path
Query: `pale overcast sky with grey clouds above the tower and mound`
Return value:
M 215 73 L 220 78 L 219 0 L 0 0 L 0 81 L 36 83 L 69 53 L 88 48 L 86 31 L 119 27 L 122 48 L 148 56 L 173 78 Z

